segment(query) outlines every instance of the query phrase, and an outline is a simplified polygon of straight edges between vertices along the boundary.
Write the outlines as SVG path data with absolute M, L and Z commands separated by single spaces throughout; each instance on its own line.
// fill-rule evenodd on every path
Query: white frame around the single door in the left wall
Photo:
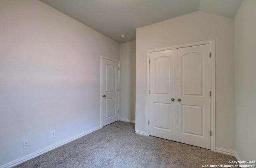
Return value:
M 112 58 L 109 58 L 109 57 L 104 57 L 104 56 L 102 56 L 102 55 L 100 55 L 100 127 L 102 128 L 102 116 L 103 116 L 103 114 L 102 114 L 102 97 L 103 97 L 103 94 L 102 94 L 102 91 L 103 91 L 103 84 L 102 84 L 102 60 L 103 59 L 108 59 L 108 60 L 110 60 L 110 61 L 114 61 L 114 62 L 117 62 L 118 63 L 118 81 L 117 81 L 117 83 L 118 83 L 118 90 L 120 90 L 120 61 L 118 61 L 118 60 L 116 60 L 116 59 L 112 59 Z M 118 121 L 120 120 L 120 91 L 118 91 L 118 105 L 117 105 L 117 108 L 118 108 L 118 111 L 119 111 L 119 113 L 118 113 Z

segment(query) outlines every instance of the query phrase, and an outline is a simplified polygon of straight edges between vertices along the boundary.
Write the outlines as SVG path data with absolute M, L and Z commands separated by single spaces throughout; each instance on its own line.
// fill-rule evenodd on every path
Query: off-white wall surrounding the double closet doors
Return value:
M 194 12 L 136 29 L 136 130 L 146 131 L 146 51 L 215 39 L 216 147 L 235 150 L 233 20 Z

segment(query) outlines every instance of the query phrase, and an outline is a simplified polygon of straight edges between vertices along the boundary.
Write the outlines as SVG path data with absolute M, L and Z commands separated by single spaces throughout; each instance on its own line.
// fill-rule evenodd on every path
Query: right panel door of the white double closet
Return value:
M 210 149 L 210 44 L 176 49 L 176 141 Z

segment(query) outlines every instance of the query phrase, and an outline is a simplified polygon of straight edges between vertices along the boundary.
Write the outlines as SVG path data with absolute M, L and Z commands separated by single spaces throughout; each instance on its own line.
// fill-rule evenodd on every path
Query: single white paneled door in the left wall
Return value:
M 118 121 L 118 62 L 102 58 L 102 126 Z

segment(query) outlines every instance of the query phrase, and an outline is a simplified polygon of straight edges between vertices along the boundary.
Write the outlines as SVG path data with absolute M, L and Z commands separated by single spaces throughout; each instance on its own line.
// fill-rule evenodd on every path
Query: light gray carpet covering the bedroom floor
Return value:
M 233 156 L 134 133 L 117 121 L 15 168 L 202 168 L 229 164 Z

